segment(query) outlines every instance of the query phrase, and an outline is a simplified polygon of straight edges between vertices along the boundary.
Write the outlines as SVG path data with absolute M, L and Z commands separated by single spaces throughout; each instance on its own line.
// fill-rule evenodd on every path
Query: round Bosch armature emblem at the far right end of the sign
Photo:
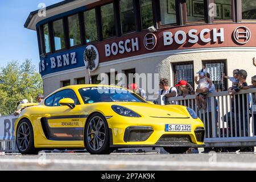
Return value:
M 246 44 L 251 39 L 251 31 L 245 26 L 240 26 L 234 30 L 233 36 L 237 43 Z

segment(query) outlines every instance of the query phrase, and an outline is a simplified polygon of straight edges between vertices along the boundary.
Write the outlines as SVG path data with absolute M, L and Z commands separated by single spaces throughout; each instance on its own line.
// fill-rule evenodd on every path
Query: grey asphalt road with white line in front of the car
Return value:
M 255 153 L 159 154 L 157 152 L 0 155 L 0 170 L 256 170 Z

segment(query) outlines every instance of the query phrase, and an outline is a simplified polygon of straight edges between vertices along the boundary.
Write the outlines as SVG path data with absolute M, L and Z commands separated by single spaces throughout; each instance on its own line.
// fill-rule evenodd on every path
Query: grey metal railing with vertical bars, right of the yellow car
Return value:
M 160 98 L 160 103 L 191 107 L 204 122 L 206 147 L 256 146 L 256 89 L 207 94 L 207 109 L 197 111 L 196 95 Z M 255 120 L 255 123 L 254 123 Z

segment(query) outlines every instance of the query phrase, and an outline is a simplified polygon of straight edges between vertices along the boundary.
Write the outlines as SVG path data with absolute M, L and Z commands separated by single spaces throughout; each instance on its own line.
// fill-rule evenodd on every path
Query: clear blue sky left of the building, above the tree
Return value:
M 36 31 L 24 28 L 31 11 L 38 10 L 39 3 L 46 6 L 63 0 L 8 0 L 0 1 L 0 67 L 9 61 L 23 63 L 31 59 L 39 70 L 39 51 Z

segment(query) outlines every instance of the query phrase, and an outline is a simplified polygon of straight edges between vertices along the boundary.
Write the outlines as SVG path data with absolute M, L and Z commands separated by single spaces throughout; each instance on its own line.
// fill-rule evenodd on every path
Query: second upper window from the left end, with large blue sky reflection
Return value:
M 53 35 L 55 42 L 55 50 L 60 50 L 65 48 L 64 41 L 64 29 L 62 19 L 56 20 L 53 22 Z

